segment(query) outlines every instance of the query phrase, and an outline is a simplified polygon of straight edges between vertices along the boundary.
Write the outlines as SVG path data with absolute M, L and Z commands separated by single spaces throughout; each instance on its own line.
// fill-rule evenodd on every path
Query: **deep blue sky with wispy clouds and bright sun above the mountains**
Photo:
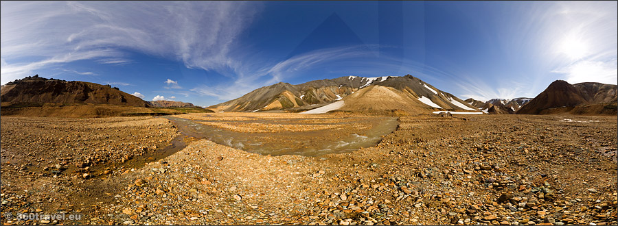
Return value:
M 616 1 L 1 1 L 1 84 L 209 106 L 279 81 L 413 75 L 461 99 L 617 84 Z

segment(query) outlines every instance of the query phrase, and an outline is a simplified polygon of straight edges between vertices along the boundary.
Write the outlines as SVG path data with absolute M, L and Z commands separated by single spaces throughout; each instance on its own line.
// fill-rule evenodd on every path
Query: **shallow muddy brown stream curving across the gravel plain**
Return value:
M 306 155 L 318 156 L 328 153 L 345 153 L 361 147 L 374 147 L 385 136 L 397 128 L 397 118 L 394 117 L 359 117 L 347 118 L 341 123 L 343 128 L 350 129 L 319 129 L 313 131 L 276 131 L 276 132 L 239 132 L 222 129 L 201 122 L 217 123 L 262 123 L 268 126 L 277 125 L 312 125 L 305 124 L 303 119 L 259 119 L 252 121 L 209 121 L 190 120 L 174 116 L 164 116 L 170 119 L 185 136 L 206 138 L 220 145 L 242 149 L 262 155 Z M 371 125 L 369 129 L 354 129 L 354 123 Z

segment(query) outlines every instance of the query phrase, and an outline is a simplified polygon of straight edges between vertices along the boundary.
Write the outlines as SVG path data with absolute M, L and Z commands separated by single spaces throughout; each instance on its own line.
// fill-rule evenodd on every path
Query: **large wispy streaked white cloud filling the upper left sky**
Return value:
M 255 2 L 1 2 L 1 83 L 52 64 L 125 64 L 125 50 L 228 70 L 236 37 L 260 10 Z M 50 25 L 61 26 L 50 26 Z M 45 37 L 45 38 L 41 38 Z M 23 61 L 19 59 L 38 59 Z

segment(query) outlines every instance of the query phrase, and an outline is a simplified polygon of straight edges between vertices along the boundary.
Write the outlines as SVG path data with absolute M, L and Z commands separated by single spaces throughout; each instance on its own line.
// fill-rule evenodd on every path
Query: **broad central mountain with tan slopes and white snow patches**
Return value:
M 292 85 L 280 82 L 253 90 L 247 95 L 213 105 L 219 111 L 256 112 L 292 108 L 310 109 L 343 101 L 339 110 L 432 112 L 435 110 L 477 111 L 470 104 L 424 81 L 406 75 L 403 77 L 356 77 L 308 81 Z

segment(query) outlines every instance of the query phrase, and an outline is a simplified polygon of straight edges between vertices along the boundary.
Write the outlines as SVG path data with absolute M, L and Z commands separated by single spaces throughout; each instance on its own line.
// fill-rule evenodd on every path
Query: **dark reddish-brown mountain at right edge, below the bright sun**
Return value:
M 597 82 L 571 85 L 553 81 L 516 114 L 617 114 L 618 86 Z

